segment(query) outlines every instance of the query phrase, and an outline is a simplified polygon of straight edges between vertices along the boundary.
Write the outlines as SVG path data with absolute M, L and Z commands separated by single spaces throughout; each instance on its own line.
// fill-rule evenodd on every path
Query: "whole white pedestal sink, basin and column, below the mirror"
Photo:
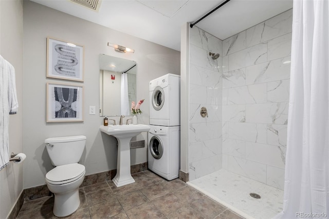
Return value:
M 117 175 L 113 178 L 116 187 L 125 186 L 135 182 L 130 172 L 130 140 L 141 132 L 150 130 L 149 125 L 108 125 L 100 126 L 100 130 L 107 135 L 118 139 Z

